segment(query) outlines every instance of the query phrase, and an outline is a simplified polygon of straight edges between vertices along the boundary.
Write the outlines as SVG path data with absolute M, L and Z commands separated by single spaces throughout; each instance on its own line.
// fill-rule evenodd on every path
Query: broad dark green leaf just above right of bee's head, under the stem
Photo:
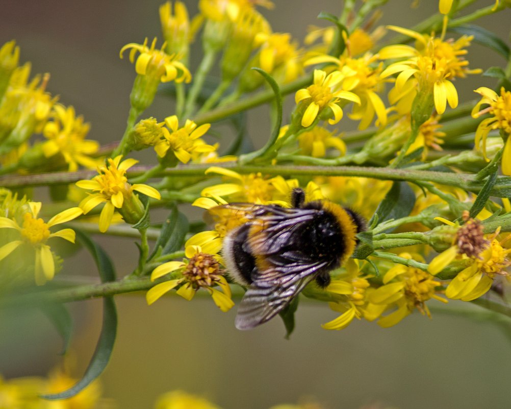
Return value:
M 386 220 L 401 219 L 410 214 L 415 204 L 415 192 L 406 182 L 394 182 L 375 211 L 378 214 L 378 221 L 382 223 Z M 375 215 L 369 220 L 372 225 Z

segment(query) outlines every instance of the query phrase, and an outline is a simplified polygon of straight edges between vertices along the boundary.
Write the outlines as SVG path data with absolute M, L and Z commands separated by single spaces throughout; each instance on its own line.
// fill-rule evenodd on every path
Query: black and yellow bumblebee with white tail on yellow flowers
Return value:
M 303 189 L 291 193 L 293 207 L 231 203 L 210 209 L 214 218 L 233 218 L 222 245 L 227 273 L 247 287 L 236 328 L 247 330 L 282 311 L 315 280 L 325 288 L 330 271 L 349 257 L 365 220 L 329 201 L 305 203 Z

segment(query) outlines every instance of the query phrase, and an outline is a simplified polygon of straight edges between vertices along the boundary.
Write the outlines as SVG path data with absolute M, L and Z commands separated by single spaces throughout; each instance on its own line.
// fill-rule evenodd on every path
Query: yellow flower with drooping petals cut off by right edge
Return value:
M 500 95 L 490 88 L 480 87 L 475 90 L 482 96 L 481 100 L 474 106 L 472 117 L 478 118 L 483 114 L 490 114 L 490 118 L 483 119 L 477 126 L 475 136 L 475 146 L 480 148 L 482 143 L 482 153 L 486 158 L 486 138 L 491 130 L 500 129 L 507 135 L 511 135 L 511 92 L 505 91 L 502 87 Z M 481 105 L 487 104 L 485 109 L 481 110 Z M 502 173 L 511 175 L 511 142 L 509 137 L 504 145 L 502 154 Z M 486 160 L 489 160 L 486 158 Z

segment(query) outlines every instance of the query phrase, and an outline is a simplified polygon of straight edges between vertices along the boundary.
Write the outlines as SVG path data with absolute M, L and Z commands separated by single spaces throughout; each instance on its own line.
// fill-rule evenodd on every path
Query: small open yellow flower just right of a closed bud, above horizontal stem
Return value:
M 170 150 L 182 163 L 188 163 L 193 153 L 213 152 L 215 146 L 207 145 L 199 139 L 209 129 L 210 124 L 204 123 L 197 127 L 197 124 L 187 119 L 184 126 L 179 128 L 179 120 L 176 115 L 165 118 L 168 128 L 161 128 L 162 139 L 154 146 L 154 150 L 160 158 L 165 157 Z

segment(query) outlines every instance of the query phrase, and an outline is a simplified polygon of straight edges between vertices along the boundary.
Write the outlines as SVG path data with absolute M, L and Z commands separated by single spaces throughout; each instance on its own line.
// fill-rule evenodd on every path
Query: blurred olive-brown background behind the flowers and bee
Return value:
M 119 59 L 128 42 L 161 38 L 159 1 L 5 1 L 0 2 L 0 44 L 16 39 L 21 61 L 33 73 L 50 72 L 49 91 L 75 106 L 91 122 L 91 139 L 118 140 L 129 109 L 135 77 L 132 64 Z M 411 27 L 436 10 L 436 0 L 390 0 L 381 24 Z M 493 4 L 488 0 L 476 5 Z M 196 2 L 185 0 L 190 13 Z M 339 13 L 337 0 L 276 0 L 273 11 L 262 10 L 274 31 L 303 39 L 309 24 L 319 24 L 321 11 Z M 508 11 L 480 21 L 508 41 Z M 160 43 L 158 43 L 160 44 Z M 196 47 L 192 67 L 200 48 Z M 472 68 L 503 65 L 493 51 L 474 45 Z M 460 100 L 472 90 L 493 86 L 491 79 L 456 82 Z M 147 116 L 173 114 L 173 104 L 157 98 Z M 248 115 L 255 144 L 267 138 L 268 108 Z M 341 122 L 341 126 L 346 126 Z M 149 154 L 148 158 L 151 158 Z M 137 251 L 132 240 L 98 238 L 123 275 L 132 270 Z M 66 260 L 63 274 L 89 275 L 86 254 Z M 354 322 L 341 332 L 320 328 L 336 316 L 325 305 L 302 303 L 297 329 L 284 339 L 276 318 L 253 331 L 234 327 L 235 309 L 221 313 L 209 297 L 189 303 L 166 297 L 148 307 L 144 294 L 116 297 L 119 334 L 102 382 L 104 396 L 123 409 L 150 408 L 156 397 L 182 389 L 203 395 L 224 409 L 264 409 L 313 396 L 331 409 L 358 408 L 379 402 L 396 408 L 478 409 L 511 407 L 510 338 L 490 322 L 433 311 L 429 320 L 413 314 L 391 329 Z M 430 305 L 434 306 L 433 300 Z M 440 304 L 440 303 L 437 303 Z M 441 306 L 438 306 L 440 308 Z M 455 302 L 451 309 L 467 307 Z M 83 371 L 101 326 L 101 302 L 72 305 L 73 347 Z M 479 311 L 474 309 L 474 311 Z M 0 373 L 5 377 L 44 375 L 59 360 L 61 342 L 40 313 L 0 313 Z M 382 406 L 383 407 L 383 406 Z

